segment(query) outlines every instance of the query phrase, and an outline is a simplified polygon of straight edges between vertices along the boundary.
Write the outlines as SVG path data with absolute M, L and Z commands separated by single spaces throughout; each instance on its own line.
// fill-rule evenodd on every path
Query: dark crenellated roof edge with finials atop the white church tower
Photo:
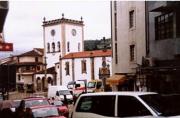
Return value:
M 61 19 L 43 21 L 43 26 L 56 25 L 56 24 L 60 24 L 60 23 L 70 23 L 70 24 L 84 25 L 82 20 L 78 21 L 78 20 L 72 20 L 72 19 L 67 19 L 67 18 L 63 17 Z

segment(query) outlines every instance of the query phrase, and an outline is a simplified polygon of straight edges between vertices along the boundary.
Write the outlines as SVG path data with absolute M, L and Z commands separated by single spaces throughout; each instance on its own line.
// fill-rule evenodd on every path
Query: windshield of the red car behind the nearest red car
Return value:
M 27 107 L 32 107 L 32 106 L 39 106 L 39 105 L 49 105 L 49 102 L 47 100 L 27 100 L 25 102 L 25 106 Z

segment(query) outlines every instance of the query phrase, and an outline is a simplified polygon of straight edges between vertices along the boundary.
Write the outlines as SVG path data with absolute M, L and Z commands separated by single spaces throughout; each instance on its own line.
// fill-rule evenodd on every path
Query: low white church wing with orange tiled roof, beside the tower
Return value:
M 67 85 L 75 80 L 99 79 L 99 68 L 105 58 L 111 75 L 111 50 L 75 52 L 65 55 L 56 63 L 57 85 Z

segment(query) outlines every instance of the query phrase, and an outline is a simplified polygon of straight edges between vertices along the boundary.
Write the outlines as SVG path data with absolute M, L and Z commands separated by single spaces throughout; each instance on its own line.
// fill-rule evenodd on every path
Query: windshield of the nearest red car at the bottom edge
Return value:
M 35 118 L 59 116 L 58 110 L 55 107 L 33 109 L 32 112 Z

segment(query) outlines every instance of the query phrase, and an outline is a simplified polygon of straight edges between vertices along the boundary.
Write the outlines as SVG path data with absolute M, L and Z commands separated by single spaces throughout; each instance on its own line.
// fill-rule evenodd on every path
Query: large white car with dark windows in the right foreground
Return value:
M 179 111 L 170 109 L 163 99 L 163 96 L 153 92 L 82 94 L 74 106 L 72 118 L 170 117 L 180 115 Z M 180 106 L 176 108 L 179 109 Z

